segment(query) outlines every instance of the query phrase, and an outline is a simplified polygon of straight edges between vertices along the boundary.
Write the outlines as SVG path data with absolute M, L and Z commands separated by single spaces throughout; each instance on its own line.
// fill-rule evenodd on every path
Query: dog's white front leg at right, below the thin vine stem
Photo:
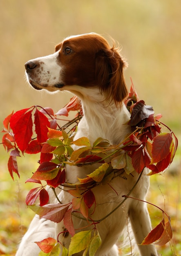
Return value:
M 141 256 L 157 256 L 154 245 L 140 245 L 151 231 L 150 216 L 146 204 L 134 201 L 129 211 L 130 221 Z

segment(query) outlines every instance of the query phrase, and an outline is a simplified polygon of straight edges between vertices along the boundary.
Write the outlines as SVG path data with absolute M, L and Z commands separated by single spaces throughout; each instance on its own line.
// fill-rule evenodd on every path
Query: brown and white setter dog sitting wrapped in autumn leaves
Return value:
M 131 133 L 131 128 L 127 124 L 130 120 L 130 112 L 124 104 L 128 91 L 123 70 L 127 64 L 119 54 L 115 43 L 113 44 L 110 47 L 107 40 L 96 33 L 69 36 L 56 46 L 54 54 L 25 63 L 27 80 L 36 90 L 69 91 L 80 99 L 83 118 L 78 124 L 74 140 L 88 137 L 90 143 L 93 143 L 98 137 L 102 137 L 112 145 L 118 145 Z M 96 168 L 98 168 L 97 164 L 89 167 L 67 165 L 66 181 L 78 183 L 77 177 L 85 178 Z M 145 200 L 149 189 L 147 172 L 145 169 L 139 183 L 131 193 L 132 197 Z M 92 191 L 96 198 L 96 209 L 91 218 L 94 220 L 103 218 L 115 209 L 123 200 L 122 196 L 132 189 L 138 177 L 139 174 L 136 171 L 133 171 L 132 175 L 124 173 L 124 179 L 118 176 L 109 184 L 94 187 Z M 49 203 L 57 202 L 51 188 L 47 187 L 47 191 Z M 58 198 L 63 204 L 72 202 L 72 195 L 65 190 L 59 189 Z M 74 216 L 72 218 L 75 229 L 87 226 L 85 220 Z M 96 256 L 118 256 L 116 243 L 125 232 L 128 219 L 140 255 L 157 256 L 154 245 L 140 245 L 151 231 L 146 204 L 130 198 L 96 226 L 102 240 Z M 38 256 L 40 248 L 33 242 L 48 237 L 57 239 L 58 234 L 58 239 L 61 241 L 65 236 L 61 233 L 64 229 L 63 221 L 54 223 L 35 216 L 22 238 L 16 256 Z M 63 245 L 68 248 L 70 240 L 71 236 L 67 234 Z M 80 256 L 83 252 L 74 255 Z

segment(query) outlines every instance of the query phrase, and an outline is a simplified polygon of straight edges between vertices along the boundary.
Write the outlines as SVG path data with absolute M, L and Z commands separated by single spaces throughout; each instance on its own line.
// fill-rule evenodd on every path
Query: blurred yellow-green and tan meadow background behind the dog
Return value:
M 180 0 L 0 0 L 0 127 L 12 110 L 33 105 L 55 111 L 67 103 L 68 92 L 47 94 L 30 88 L 24 63 L 54 52 L 63 38 L 97 32 L 117 40 L 129 66 L 130 77 L 147 105 L 161 113 L 180 140 L 181 127 L 181 1 Z M 2 134 L 1 134 L 2 137 Z M 32 184 L 24 184 L 36 170 L 38 157 L 19 160 L 21 179 L 11 180 L 8 154 L 0 147 L 0 255 L 14 255 L 16 244 L 34 215 L 25 206 Z M 171 244 L 159 254 L 181 255 L 180 148 L 164 175 L 151 177 L 148 201 L 172 218 Z M 153 226 L 162 218 L 150 207 Z M 123 252 L 120 249 L 120 255 Z

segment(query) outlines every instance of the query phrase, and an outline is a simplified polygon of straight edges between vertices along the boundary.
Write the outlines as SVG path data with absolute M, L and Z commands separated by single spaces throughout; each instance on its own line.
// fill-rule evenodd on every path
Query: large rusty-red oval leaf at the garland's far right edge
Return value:
M 160 162 L 170 153 L 170 146 L 173 142 L 172 133 L 160 133 L 153 139 L 152 163 Z

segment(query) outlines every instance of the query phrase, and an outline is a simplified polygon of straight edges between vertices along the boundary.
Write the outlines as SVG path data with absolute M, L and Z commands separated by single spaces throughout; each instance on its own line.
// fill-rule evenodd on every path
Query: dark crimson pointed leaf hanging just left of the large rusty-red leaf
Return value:
M 139 148 L 132 154 L 132 165 L 137 173 L 141 173 L 145 167 L 143 148 Z

